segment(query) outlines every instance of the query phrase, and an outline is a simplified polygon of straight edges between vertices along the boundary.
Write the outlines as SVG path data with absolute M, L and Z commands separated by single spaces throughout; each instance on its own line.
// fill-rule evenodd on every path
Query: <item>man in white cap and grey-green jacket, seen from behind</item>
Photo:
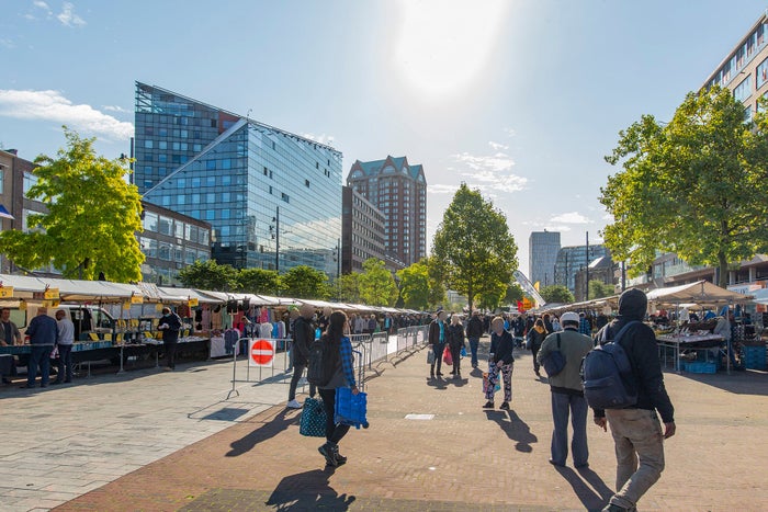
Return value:
M 541 344 L 537 354 L 539 364 L 554 351 L 560 351 L 565 359 L 565 367 L 554 376 L 550 376 L 552 401 L 552 444 L 550 447 L 550 464 L 565 466 L 568 456 L 568 416 L 573 428 L 571 453 L 574 466 L 589 466 L 589 448 L 587 446 L 587 400 L 584 399 L 579 371 L 581 360 L 592 349 L 592 340 L 578 333 L 578 315 L 565 312 L 561 317 L 562 332 L 553 332 Z

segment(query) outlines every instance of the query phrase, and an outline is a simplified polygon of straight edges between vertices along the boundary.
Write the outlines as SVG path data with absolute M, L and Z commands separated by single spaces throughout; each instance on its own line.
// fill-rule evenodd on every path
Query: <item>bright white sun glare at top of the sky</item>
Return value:
M 400 0 L 395 67 L 407 87 L 431 99 L 464 90 L 487 64 L 506 0 Z

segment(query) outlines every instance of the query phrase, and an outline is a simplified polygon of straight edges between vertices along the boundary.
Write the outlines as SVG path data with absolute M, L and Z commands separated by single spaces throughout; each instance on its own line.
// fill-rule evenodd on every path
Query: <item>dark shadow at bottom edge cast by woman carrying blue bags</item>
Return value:
M 349 510 L 355 497 L 336 492 L 330 487 L 331 475 L 334 475 L 334 468 L 328 467 L 290 475 L 280 480 L 266 504 L 276 505 L 275 510 L 281 512 Z

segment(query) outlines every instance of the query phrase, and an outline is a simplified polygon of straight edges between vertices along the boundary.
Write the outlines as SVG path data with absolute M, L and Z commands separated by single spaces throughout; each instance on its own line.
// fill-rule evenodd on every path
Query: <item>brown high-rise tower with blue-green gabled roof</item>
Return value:
M 355 160 L 347 185 L 384 215 L 384 250 L 405 266 L 427 255 L 427 180 L 407 157 Z

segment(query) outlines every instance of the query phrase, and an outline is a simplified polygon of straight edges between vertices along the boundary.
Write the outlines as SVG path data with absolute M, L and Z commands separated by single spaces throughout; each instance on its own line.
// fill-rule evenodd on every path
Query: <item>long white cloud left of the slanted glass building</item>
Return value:
M 15 91 L 0 89 L 0 115 L 18 120 L 48 121 L 125 140 L 134 125 L 117 121 L 91 105 L 75 105 L 59 91 Z

